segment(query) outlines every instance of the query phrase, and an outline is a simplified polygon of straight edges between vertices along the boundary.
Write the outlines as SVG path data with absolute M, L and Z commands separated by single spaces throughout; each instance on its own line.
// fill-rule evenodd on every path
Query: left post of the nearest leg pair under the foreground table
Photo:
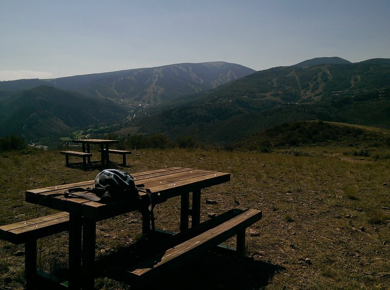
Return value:
M 69 289 L 79 290 L 81 284 L 82 218 L 69 214 Z

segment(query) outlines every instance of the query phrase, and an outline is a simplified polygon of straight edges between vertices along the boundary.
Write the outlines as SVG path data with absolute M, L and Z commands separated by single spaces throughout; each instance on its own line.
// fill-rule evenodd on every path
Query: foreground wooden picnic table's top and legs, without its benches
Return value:
M 180 231 L 200 223 L 201 189 L 230 180 L 229 173 L 191 168 L 171 167 L 132 174 L 137 186 L 149 188 L 156 204 L 181 196 Z M 94 289 L 96 222 L 135 211 L 134 204 L 121 200 L 101 204 L 82 198 L 66 198 L 61 193 L 74 187 L 92 187 L 93 180 L 26 191 L 26 201 L 69 212 L 70 289 Z M 192 192 L 192 208 L 189 208 Z M 140 193 L 147 197 L 146 193 Z M 143 231 L 150 229 L 150 220 L 142 217 Z

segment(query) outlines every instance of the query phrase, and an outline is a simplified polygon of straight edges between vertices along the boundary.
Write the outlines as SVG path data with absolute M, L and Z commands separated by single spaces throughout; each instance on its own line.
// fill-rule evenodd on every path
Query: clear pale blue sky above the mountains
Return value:
M 0 0 L 0 81 L 390 58 L 390 0 Z

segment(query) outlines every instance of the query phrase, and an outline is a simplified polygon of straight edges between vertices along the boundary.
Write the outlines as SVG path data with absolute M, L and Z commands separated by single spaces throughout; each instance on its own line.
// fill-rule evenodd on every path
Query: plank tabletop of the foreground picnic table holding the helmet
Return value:
M 157 204 L 185 192 L 193 192 L 194 190 L 200 190 L 205 187 L 230 181 L 229 173 L 180 167 L 131 173 L 131 175 L 134 178 L 136 186 L 144 185 L 144 188 L 149 188 L 152 191 L 154 201 Z M 70 188 L 93 187 L 93 185 L 94 180 L 89 180 L 74 184 L 31 189 L 25 193 L 26 201 L 61 211 L 77 213 L 95 220 L 101 220 L 137 209 L 135 205 L 129 204 L 130 201 L 126 200 L 101 204 L 82 198 L 65 198 L 61 194 Z M 142 194 L 141 192 L 140 195 Z

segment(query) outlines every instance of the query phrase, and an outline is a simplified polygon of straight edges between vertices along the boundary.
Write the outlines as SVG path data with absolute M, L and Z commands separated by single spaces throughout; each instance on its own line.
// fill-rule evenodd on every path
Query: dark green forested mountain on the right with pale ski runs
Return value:
M 271 125 L 324 120 L 390 128 L 390 59 L 274 67 L 139 120 L 143 133 L 238 142 Z

